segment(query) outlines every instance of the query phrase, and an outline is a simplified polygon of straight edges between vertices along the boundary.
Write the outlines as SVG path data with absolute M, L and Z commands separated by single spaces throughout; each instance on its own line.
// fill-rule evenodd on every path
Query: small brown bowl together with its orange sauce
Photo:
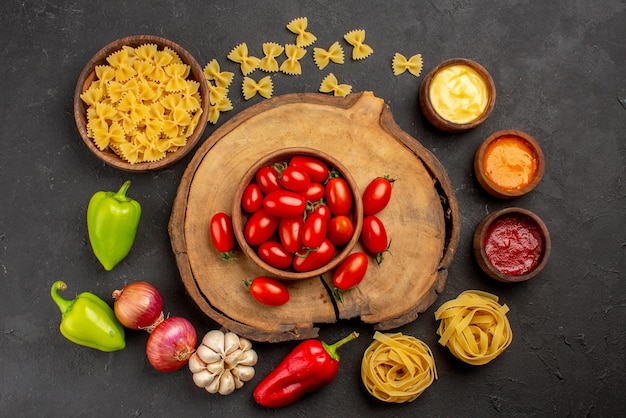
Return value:
M 490 135 L 474 155 L 480 185 L 500 199 L 513 199 L 533 190 L 545 171 L 545 158 L 533 137 L 517 130 Z

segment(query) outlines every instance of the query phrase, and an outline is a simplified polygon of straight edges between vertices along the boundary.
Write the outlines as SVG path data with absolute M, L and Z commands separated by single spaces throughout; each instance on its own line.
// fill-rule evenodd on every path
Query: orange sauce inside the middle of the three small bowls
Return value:
M 487 146 L 483 166 L 494 184 L 507 190 L 519 190 L 535 179 L 537 155 L 524 139 L 503 136 Z

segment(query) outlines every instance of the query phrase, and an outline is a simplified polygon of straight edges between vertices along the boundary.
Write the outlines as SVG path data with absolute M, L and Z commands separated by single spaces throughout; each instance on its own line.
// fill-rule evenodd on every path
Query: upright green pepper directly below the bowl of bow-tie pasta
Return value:
M 87 206 L 87 230 L 94 254 L 110 271 L 122 261 L 133 246 L 141 218 L 141 205 L 126 196 L 127 180 L 115 192 L 97 192 Z

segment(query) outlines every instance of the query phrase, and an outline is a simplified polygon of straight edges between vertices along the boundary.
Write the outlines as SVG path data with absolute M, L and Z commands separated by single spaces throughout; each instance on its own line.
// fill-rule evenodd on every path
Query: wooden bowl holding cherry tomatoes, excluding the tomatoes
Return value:
M 354 225 L 354 233 L 352 238 L 345 246 L 336 248 L 335 256 L 331 259 L 331 261 L 323 267 L 317 268 L 315 270 L 306 271 L 306 272 L 297 272 L 293 270 L 283 270 L 276 267 L 273 267 L 263 261 L 257 254 L 255 248 L 250 246 L 244 237 L 244 227 L 246 225 L 246 221 L 248 220 L 248 215 L 242 211 L 241 209 L 241 198 L 243 196 L 243 191 L 251 181 L 254 180 L 254 176 L 256 172 L 265 166 L 271 166 L 275 163 L 285 163 L 288 162 L 291 157 L 295 155 L 304 155 L 309 157 L 317 158 L 323 162 L 325 162 L 330 169 L 336 170 L 340 177 L 346 180 L 350 190 L 352 192 L 352 211 L 350 213 L 350 217 L 352 218 L 352 223 Z M 350 172 L 346 169 L 346 167 L 333 156 L 326 154 L 322 151 L 306 148 L 306 147 L 289 147 L 278 149 L 274 152 L 271 152 L 264 157 L 261 157 L 256 161 L 249 169 L 246 171 L 244 176 L 242 177 L 237 190 L 235 191 L 235 197 L 233 202 L 233 211 L 232 211 L 232 221 L 233 221 L 233 229 L 235 232 L 235 238 L 237 239 L 237 243 L 239 247 L 243 251 L 243 253 L 248 256 L 256 265 L 267 271 L 270 275 L 277 277 L 283 280 L 304 280 L 310 279 L 312 277 L 319 277 L 322 274 L 331 271 L 335 267 L 337 267 L 352 251 L 354 246 L 359 240 L 359 236 L 361 235 L 361 227 L 363 224 L 363 203 L 361 201 L 361 194 L 359 192 L 359 187 L 350 175 Z

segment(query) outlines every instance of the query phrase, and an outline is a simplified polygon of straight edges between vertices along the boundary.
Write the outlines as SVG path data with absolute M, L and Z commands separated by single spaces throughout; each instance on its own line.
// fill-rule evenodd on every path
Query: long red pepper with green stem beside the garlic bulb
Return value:
M 267 408 L 280 408 L 328 385 L 339 371 L 337 349 L 358 336 L 353 332 L 332 345 L 301 342 L 254 389 L 254 400 Z

